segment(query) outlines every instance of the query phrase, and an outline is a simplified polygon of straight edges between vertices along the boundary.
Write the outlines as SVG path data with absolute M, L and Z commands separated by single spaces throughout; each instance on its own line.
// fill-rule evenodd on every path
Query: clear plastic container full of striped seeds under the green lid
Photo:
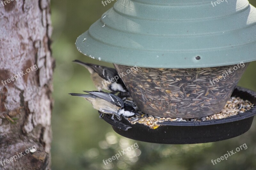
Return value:
M 114 64 L 143 113 L 171 118 L 196 118 L 220 112 L 248 65 L 157 69 Z

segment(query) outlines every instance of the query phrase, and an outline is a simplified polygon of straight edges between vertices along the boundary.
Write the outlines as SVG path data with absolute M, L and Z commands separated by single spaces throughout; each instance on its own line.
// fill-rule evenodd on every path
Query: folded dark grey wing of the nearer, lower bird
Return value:
M 120 97 L 118 97 L 114 94 L 106 93 L 106 92 L 99 92 L 99 91 L 92 91 L 92 92 L 84 91 L 84 92 L 92 94 L 92 95 L 99 97 L 103 100 L 106 100 L 117 107 L 124 108 L 124 101 Z

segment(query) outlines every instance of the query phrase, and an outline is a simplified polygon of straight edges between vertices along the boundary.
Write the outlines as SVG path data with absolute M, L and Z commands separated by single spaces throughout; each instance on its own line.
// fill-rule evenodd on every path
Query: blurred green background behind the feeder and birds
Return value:
M 114 1 L 115 2 L 115 1 Z M 89 72 L 72 63 L 79 59 L 113 67 L 84 56 L 75 47 L 76 38 L 114 5 L 100 0 L 52 0 L 54 109 L 52 112 L 52 169 L 256 169 L 256 120 L 245 134 L 229 140 L 207 143 L 166 145 L 130 140 L 116 134 L 111 126 L 99 118 L 89 102 L 68 95 L 70 92 L 96 90 Z M 256 0 L 250 0 L 256 6 Z M 100 50 L 100 49 L 99 49 Z M 239 85 L 256 91 L 256 62 L 246 70 Z M 107 166 L 102 162 L 132 144 L 139 148 L 113 160 Z M 248 149 L 232 155 L 217 165 L 212 159 L 246 143 Z

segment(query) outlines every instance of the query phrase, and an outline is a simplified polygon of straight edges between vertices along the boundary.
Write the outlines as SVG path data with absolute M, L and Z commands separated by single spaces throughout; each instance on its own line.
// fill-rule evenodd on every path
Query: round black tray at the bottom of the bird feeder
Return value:
M 237 87 L 232 96 L 249 100 L 256 104 L 256 92 Z M 99 112 L 100 113 L 100 112 Z M 122 117 L 121 121 L 112 120 L 104 114 L 103 120 L 112 125 L 114 131 L 124 137 L 158 144 L 198 144 L 216 142 L 237 137 L 247 132 L 252 126 L 256 107 L 224 119 L 202 122 L 162 122 L 157 129 L 150 129 L 143 124 L 131 124 Z

